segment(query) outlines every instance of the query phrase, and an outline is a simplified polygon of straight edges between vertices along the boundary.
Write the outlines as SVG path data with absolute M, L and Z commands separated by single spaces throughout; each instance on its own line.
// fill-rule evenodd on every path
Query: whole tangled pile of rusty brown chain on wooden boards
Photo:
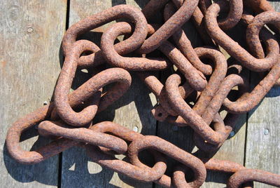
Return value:
M 163 13 L 164 24 L 149 25 L 147 20 L 158 12 Z M 225 18 L 218 18 L 222 12 Z M 118 19 L 126 22 L 106 29 L 100 47 L 92 41 L 77 40 L 80 34 Z M 181 29 L 188 20 L 206 46 L 192 47 Z M 238 23 L 246 27 L 246 49 L 225 33 Z M 158 105 L 152 109 L 155 119 L 190 126 L 199 151 L 218 151 L 235 128 L 239 115 L 256 107 L 273 86 L 279 85 L 279 29 L 280 13 L 267 1 L 258 0 L 151 0 L 142 10 L 119 5 L 80 20 L 66 31 L 62 41 L 65 60 L 53 102 L 10 127 L 6 138 L 8 152 L 20 163 L 34 164 L 78 145 L 85 147 L 90 158 L 101 166 L 164 187 L 200 187 L 207 170 L 233 174 L 228 187 L 252 187 L 253 181 L 280 187 L 280 175 L 189 154 L 160 137 L 141 135 L 110 121 L 92 125 L 95 114 L 130 88 L 130 72 L 137 72 L 158 98 Z M 125 40 L 115 43 L 121 35 L 125 35 Z M 221 48 L 235 59 L 231 64 Z M 162 55 L 149 58 L 155 50 Z M 207 64 L 202 60 L 207 60 Z M 69 93 L 78 67 L 88 69 L 92 78 Z M 235 72 L 230 72 L 232 68 Z M 162 83 L 155 73 L 167 69 L 174 74 Z M 261 81 L 252 90 L 248 71 L 260 72 Z M 113 86 L 105 92 L 103 88 L 109 83 Z M 229 93 L 236 86 L 238 90 L 233 93 L 237 100 L 232 101 Z M 225 119 L 219 114 L 222 110 L 228 112 Z M 40 135 L 54 140 L 28 152 L 20 147 L 20 135 L 34 125 L 38 125 Z M 154 156 L 153 166 L 139 160 L 142 150 Z M 130 163 L 116 159 L 114 154 L 125 154 Z M 172 177 L 165 174 L 167 156 L 178 161 Z M 193 179 L 187 181 L 189 174 Z

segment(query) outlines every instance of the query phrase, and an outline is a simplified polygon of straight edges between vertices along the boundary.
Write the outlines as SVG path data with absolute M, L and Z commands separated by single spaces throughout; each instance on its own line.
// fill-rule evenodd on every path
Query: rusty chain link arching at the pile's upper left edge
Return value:
M 91 29 L 123 17 L 135 23 L 136 33 L 132 34 L 129 39 L 117 43 L 115 45 L 116 51 L 120 55 L 125 55 L 126 53 L 133 51 L 133 49 L 138 48 L 146 39 L 148 29 L 146 19 L 139 9 L 134 8 L 133 6 L 120 5 L 92 15 L 72 25 L 66 31 L 62 41 L 64 55 L 66 55 L 66 51 L 70 50 L 71 45 L 76 41 L 78 35 L 89 32 Z M 90 55 L 81 56 L 78 60 L 78 65 L 81 67 L 96 67 L 105 62 L 106 60 L 102 55 L 102 51 L 97 51 Z

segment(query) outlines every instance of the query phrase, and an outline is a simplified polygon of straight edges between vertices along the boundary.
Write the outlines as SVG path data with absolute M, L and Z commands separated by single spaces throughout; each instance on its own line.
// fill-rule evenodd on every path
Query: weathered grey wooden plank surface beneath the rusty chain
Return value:
M 63 58 L 62 36 L 78 20 L 118 4 L 143 7 L 148 0 L 1 0 L 0 4 L 0 187 L 159 187 L 128 180 L 123 175 L 90 161 L 85 151 L 73 147 L 59 156 L 32 166 L 10 158 L 5 137 L 19 117 L 41 107 L 52 97 Z M 277 1 L 271 2 L 279 10 Z M 106 27 L 106 26 L 105 26 Z M 192 25 L 186 33 L 194 46 L 201 46 Z M 90 37 L 99 43 L 101 33 Z M 89 78 L 78 71 L 73 89 Z M 114 121 L 144 135 L 158 135 L 188 152 L 193 151 L 190 128 L 178 128 L 155 121 L 150 111 L 156 100 L 133 75 L 132 88 L 94 121 Z M 228 159 L 247 168 L 260 168 L 280 174 L 280 88 L 272 88 L 261 104 L 239 119 L 235 135 L 227 140 L 216 159 Z M 36 149 L 48 142 L 34 137 L 35 130 L 22 135 L 22 147 Z M 120 156 L 122 158 L 122 156 Z M 227 175 L 209 173 L 203 187 L 225 187 Z M 130 185 L 128 185 L 130 184 Z M 255 187 L 266 187 L 258 184 Z

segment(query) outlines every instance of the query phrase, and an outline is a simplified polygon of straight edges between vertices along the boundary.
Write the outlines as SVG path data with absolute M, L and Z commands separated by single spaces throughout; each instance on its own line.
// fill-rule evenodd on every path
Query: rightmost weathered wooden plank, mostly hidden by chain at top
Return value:
M 280 11 L 279 1 L 270 1 L 275 11 Z M 253 80 L 253 79 L 252 79 Z M 280 174 L 280 88 L 267 93 L 260 105 L 250 112 L 246 139 L 247 168 L 258 168 Z M 254 187 L 271 187 L 255 182 Z

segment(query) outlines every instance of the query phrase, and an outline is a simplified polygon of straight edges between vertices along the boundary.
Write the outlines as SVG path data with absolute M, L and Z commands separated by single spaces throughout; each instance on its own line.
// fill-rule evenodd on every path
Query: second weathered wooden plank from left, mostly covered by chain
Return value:
M 71 0 L 69 25 L 86 18 L 94 13 L 116 6 L 118 4 L 133 4 L 143 6 L 145 1 L 78 1 Z M 104 26 L 108 27 L 108 25 Z M 101 33 L 92 32 L 85 38 L 99 45 Z M 137 130 L 144 135 L 155 135 L 156 121 L 151 116 L 150 110 L 155 105 L 155 98 L 149 95 L 148 89 L 132 74 L 132 88 L 114 105 L 98 114 L 94 122 L 113 121 L 120 125 Z M 79 79 L 79 78 L 78 78 Z M 123 159 L 124 156 L 118 156 Z M 62 187 L 152 187 L 153 184 L 143 184 L 128 180 L 123 175 L 118 175 L 112 170 L 102 168 L 93 163 L 83 149 L 72 148 L 62 154 Z

